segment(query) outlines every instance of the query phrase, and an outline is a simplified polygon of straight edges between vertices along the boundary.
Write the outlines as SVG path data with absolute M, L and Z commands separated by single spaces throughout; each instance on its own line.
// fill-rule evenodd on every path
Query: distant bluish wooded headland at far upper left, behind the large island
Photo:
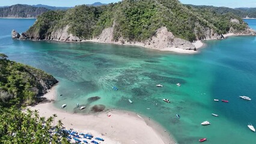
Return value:
M 32 7 L 31 5 L 11 5 L 10 7 L 0 8 L 0 17 L 26 17 L 35 18 L 38 15 L 49 11 L 47 8 L 43 7 Z

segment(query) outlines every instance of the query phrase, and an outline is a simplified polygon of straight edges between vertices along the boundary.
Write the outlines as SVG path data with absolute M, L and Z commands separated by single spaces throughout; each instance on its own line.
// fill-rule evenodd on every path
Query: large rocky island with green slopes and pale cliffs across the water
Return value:
M 196 50 L 193 42 L 221 39 L 228 33 L 255 35 L 236 14 L 213 13 L 177 0 L 124 0 L 100 7 L 79 5 L 67 11 L 48 11 L 21 36 L 13 33 L 13 38 Z

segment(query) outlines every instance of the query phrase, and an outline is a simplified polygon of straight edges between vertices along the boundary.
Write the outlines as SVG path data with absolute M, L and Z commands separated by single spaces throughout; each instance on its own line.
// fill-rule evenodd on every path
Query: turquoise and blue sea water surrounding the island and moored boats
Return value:
M 0 19 L 0 53 L 55 76 L 62 94 L 56 107 L 66 103 L 67 110 L 77 112 L 79 103 L 88 107 L 88 113 L 94 104 L 104 104 L 107 109 L 130 110 L 159 122 L 181 144 L 198 143 L 203 137 L 208 139 L 205 143 L 256 142 L 256 133 L 247 127 L 249 122 L 256 127 L 256 37 L 206 41 L 196 55 L 114 44 L 11 39 L 12 29 L 23 32 L 34 21 Z M 256 29 L 256 20 L 246 22 Z M 163 88 L 156 87 L 159 83 Z M 89 103 L 87 98 L 93 96 L 101 98 Z M 203 127 L 203 121 L 212 124 Z

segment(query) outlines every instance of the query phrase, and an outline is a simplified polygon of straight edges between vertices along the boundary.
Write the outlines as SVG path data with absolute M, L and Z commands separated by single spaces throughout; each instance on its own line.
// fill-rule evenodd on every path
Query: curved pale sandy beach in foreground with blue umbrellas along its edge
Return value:
M 56 99 L 56 86 L 44 95 L 49 100 Z M 174 144 L 168 132 L 156 122 L 137 115 L 133 112 L 121 110 L 109 110 L 108 112 L 93 115 L 81 115 L 69 113 L 58 109 L 53 103 L 37 104 L 29 106 L 31 110 L 38 110 L 40 116 L 48 118 L 56 114 L 61 119 L 64 127 L 74 128 L 81 133 L 91 133 L 96 137 L 105 139 L 101 143 L 169 143 Z M 108 116 L 111 115 L 111 116 Z

